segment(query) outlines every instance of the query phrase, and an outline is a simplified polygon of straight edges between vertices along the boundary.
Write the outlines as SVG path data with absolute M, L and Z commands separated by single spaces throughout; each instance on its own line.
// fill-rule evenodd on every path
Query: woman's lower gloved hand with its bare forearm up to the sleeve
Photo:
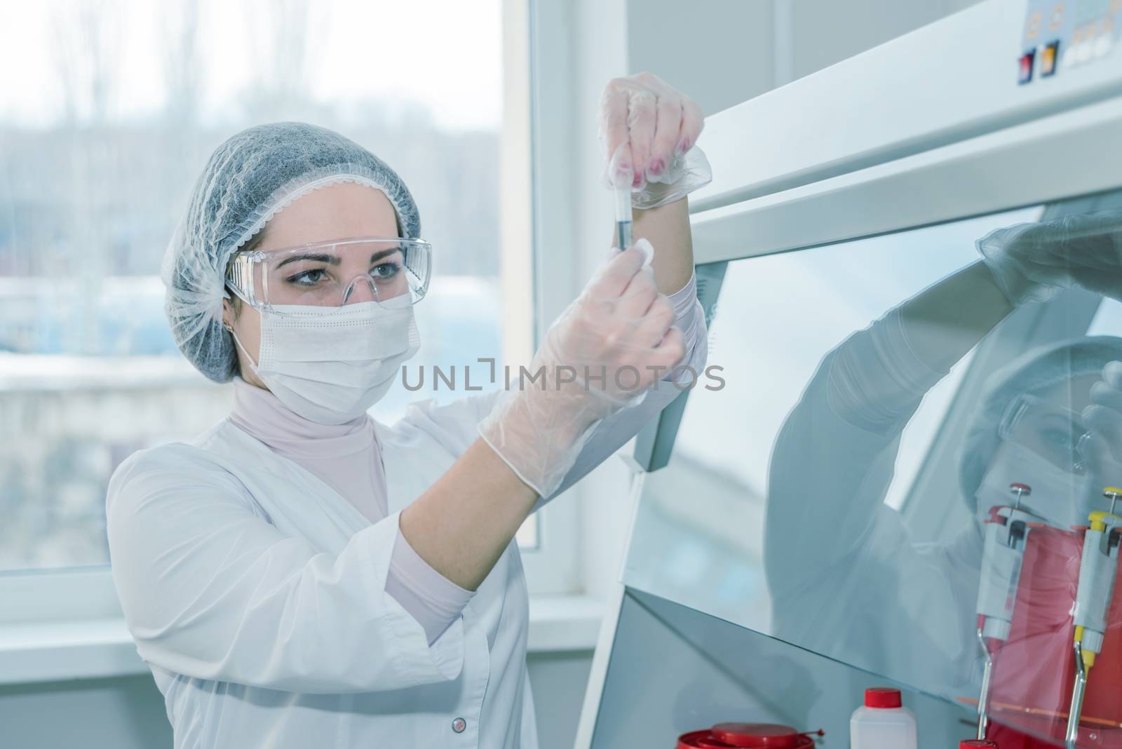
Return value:
M 671 327 L 669 300 L 645 267 L 643 247 L 653 250 L 643 240 L 637 244 L 614 252 L 550 327 L 522 381 L 498 394 L 477 426 L 481 438 L 402 510 L 403 537 L 457 585 L 476 590 L 537 497 L 551 498 L 567 478 L 574 480 L 574 469 L 581 474 L 622 445 L 622 432 L 634 434 L 632 427 L 656 413 L 652 406 L 669 403 L 653 399 L 620 415 L 603 433 L 592 428 L 645 396 L 659 372 L 678 364 L 684 353 L 681 332 Z M 620 378 L 617 385 L 616 374 L 626 368 L 634 368 L 638 380 Z M 628 416 L 635 419 L 628 422 Z M 594 432 L 598 440 L 581 455 Z M 624 438 L 599 442 L 601 436 Z M 611 450 L 597 453 L 607 445 Z M 595 462 L 589 461 L 592 454 Z

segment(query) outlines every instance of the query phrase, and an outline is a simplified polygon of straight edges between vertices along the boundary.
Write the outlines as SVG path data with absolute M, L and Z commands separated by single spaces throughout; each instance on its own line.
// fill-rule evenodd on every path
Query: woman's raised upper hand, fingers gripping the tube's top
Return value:
M 669 172 L 681 164 L 703 126 L 701 109 L 657 76 L 613 78 L 600 96 L 605 181 L 633 188 L 673 181 Z

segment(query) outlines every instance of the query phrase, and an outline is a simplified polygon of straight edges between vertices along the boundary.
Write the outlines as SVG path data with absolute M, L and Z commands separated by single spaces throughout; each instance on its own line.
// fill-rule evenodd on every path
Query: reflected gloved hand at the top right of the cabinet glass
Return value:
M 1118 211 L 995 229 L 977 241 L 977 248 L 1013 305 L 1047 302 L 1059 289 L 1073 286 L 1122 300 L 1122 213 Z

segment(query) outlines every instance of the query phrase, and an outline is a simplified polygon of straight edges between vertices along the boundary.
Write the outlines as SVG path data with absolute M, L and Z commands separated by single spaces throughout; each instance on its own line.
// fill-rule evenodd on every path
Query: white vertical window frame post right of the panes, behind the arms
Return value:
M 570 173 L 569 12 L 567 3 L 503 0 L 499 225 L 503 358 L 512 367 L 528 364 L 549 323 L 576 296 L 577 258 L 568 250 L 571 189 L 558 178 Z M 578 520 L 571 496 L 537 511 L 539 546 L 522 552 L 531 595 L 581 592 Z

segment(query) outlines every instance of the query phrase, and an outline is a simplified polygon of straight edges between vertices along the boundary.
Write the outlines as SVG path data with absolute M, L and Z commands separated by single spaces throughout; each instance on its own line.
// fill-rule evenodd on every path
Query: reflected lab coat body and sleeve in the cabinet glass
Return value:
M 819 364 L 772 453 L 764 533 L 770 634 L 935 694 L 976 695 L 981 528 L 972 523 L 947 543 L 911 539 L 884 497 L 923 392 L 882 432 L 848 424 L 827 385 L 842 346 Z

